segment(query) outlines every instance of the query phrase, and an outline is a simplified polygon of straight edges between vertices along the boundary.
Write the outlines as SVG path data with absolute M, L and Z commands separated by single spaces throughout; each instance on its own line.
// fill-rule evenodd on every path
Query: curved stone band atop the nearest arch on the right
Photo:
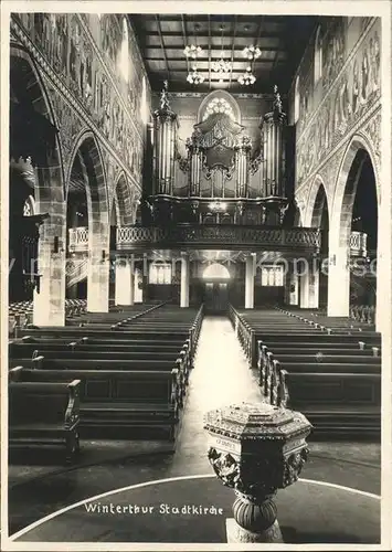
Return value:
M 362 135 L 354 135 L 348 144 L 339 167 L 335 187 L 332 224 L 338 224 L 340 245 L 348 245 L 351 233 L 351 215 L 357 193 L 358 179 L 365 155 L 369 155 L 375 180 L 378 204 L 380 204 L 379 181 L 373 148 Z

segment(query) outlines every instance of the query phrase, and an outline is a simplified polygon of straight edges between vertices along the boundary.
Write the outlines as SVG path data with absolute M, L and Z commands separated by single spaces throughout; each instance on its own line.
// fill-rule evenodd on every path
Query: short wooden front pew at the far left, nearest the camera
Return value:
M 71 463 L 80 448 L 80 380 L 9 384 L 10 448 L 61 446 Z

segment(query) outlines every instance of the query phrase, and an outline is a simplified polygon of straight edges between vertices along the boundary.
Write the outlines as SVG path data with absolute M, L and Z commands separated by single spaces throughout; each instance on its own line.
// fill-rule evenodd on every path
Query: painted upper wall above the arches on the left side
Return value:
M 65 187 L 75 144 L 91 130 L 102 156 L 109 204 L 119 173 L 136 195 L 140 193 L 144 77 L 150 104 L 149 84 L 128 22 L 128 83 L 121 71 L 124 20 L 120 14 L 85 13 L 13 13 L 11 18 L 11 41 L 31 55 L 52 106 Z

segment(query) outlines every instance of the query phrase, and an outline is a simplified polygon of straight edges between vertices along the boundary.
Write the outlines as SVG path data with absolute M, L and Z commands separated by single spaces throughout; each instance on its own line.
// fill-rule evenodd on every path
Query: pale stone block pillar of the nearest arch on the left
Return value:
M 36 191 L 36 211 L 50 213 L 40 227 L 38 268 L 40 293 L 33 294 L 33 323 L 35 326 L 64 326 L 65 323 L 65 202 L 62 197 L 60 170 L 40 169 L 38 181 L 46 187 Z M 56 244 L 55 244 L 56 242 Z

